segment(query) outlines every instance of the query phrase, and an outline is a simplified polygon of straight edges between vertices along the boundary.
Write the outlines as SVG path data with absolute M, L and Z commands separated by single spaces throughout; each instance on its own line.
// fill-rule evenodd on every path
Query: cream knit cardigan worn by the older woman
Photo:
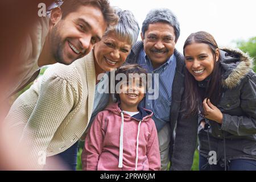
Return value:
M 93 51 L 71 65 L 55 64 L 14 102 L 6 122 L 31 147 L 34 165 L 42 153 L 59 154 L 84 133 L 93 109 Z

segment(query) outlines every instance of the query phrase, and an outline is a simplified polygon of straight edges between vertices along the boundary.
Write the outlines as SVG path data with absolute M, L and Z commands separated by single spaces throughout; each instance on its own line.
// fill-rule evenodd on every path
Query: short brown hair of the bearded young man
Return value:
M 114 13 L 113 7 L 110 6 L 108 0 L 64 0 L 60 6 L 62 18 L 64 19 L 69 13 L 76 11 L 80 6 L 92 5 L 98 7 L 108 27 L 113 27 L 118 23 L 118 16 Z

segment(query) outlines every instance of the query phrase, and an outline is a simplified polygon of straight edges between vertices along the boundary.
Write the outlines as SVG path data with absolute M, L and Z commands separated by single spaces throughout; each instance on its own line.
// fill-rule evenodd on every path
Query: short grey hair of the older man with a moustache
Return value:
M 145 35 L 145 32 L 147 31 L 149 24 L 158 22 L 168 23 L 172 27 L 174 27 L 175 42 L 177 42 L 177 39 L 179 39 L 180 36 L 180 23 L 177 20 L 176 15 L 172 13 L 171 10 L 166 8 L 150 10 L 150 12 L 146 16 L 146 19 L 144 19 L 144 22 L 142 23 L 143 36 Z

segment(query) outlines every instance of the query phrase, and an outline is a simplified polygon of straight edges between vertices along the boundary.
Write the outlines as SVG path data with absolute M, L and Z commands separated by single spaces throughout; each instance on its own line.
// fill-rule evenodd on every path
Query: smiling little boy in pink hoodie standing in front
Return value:
M 115 82 L 117 102 L 97 114 L 82 151 L 84 170 L 160 170 L 158 135 L 153 113 L 138 107 L 146 92 L 146 70 L 138 64 L 123 65 Z M 137 75 L 137 76 L 135 76 Z M 130 82 L 129 82 L 130 81 Z

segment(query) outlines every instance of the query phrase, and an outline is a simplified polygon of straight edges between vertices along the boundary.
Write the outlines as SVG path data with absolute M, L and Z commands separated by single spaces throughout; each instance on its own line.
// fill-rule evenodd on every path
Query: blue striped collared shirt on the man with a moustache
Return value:
M 146 97 L 141 101 L 139 106 L 153 111 L 152 119 L 155 121 L 156 129 L 160 131 L 166 123 L 170 122 L 170 111 L 172 103 L 172 83 L 174 81 L 176 69 L 176 57 L 172 55 L 166 63 L 154 69 L 150 59 L 146 56 L 144 49 L 139 54 L 137 62 L 148 73 L 152 73 L 152 88 L 159 88 L 158 98 L 152 100 L 152 94 L 146 93 Z M 159 74 L 159 85 L 155 82 L 155 74 Z M 153 93 L 154 94 L 154 93 Z

